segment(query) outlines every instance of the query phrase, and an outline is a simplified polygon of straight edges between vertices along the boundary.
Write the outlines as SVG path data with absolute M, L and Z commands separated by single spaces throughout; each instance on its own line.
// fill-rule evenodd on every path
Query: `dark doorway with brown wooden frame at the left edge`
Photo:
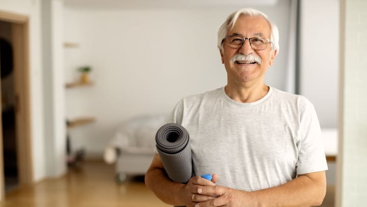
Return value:
M 0 200 L 32 184 L 29 20 L 0 11 Z

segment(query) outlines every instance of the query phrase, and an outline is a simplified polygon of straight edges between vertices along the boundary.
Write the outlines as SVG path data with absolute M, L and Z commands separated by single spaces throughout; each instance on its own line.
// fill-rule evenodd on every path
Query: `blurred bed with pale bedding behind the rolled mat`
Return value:
M 128 175 L 144 175 L 155 149 L 155 133 L 166 115 L 144 115 L 124 121 L 104 150 L 104 161 L 115 164 L 117 183 Z

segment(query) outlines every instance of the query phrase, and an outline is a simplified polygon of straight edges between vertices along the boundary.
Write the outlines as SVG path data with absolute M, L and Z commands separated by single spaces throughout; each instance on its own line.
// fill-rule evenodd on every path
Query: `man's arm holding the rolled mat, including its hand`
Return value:
M 215 182 L 215 180 L 213 179 Z M 215 184 L 200 176 L 193 177 L 188 184 L 173 182 L 168 178 L 163 167 L 161 158 L 155 154 L 153 161 L 145 174 L 145 185 L 153 191 L 154 194 L 163 202 L 171 205 L 194 206 L 196 202 L 192 201 L 192 195 L 198 188 L 204 186 L 214 186 Z M 202 196 L 202 200 L 213 199 L 212 196 Z

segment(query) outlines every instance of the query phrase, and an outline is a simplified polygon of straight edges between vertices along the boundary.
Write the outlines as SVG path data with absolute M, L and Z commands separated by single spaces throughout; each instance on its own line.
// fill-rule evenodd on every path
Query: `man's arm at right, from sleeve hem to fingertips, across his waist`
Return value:
M 254 192 L 239 191 L 221 186 L 202 187 L 198 193 L 220 197 L 195 206 L 318 206 L 326 194 L 325 171 L 299 175 L 283 185 Z M 199 196 L 197 196 L 198 199 Z

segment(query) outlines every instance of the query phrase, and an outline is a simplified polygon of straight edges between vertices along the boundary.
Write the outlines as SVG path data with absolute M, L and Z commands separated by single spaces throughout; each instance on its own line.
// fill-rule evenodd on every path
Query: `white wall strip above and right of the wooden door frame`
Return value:
M 40 1 L 0 0 L 0 9 L 29 16 L 30 43 L 30 93 L 31 93 L 31 136 L 33 179 L 38 181 L 45 176 L 44 136 L 43 136 L 43 94 L 42 94 L 42 54 L 40 35 Z

